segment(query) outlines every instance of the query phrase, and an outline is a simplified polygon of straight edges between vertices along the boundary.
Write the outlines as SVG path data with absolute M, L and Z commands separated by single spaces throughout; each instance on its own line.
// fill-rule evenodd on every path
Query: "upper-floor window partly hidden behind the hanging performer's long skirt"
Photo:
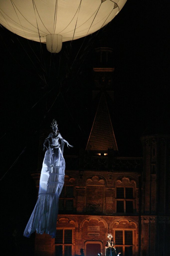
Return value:
M 58 210 L 62 211 L 74 211 L 74 186 L 63 186 L 60 194 Z

